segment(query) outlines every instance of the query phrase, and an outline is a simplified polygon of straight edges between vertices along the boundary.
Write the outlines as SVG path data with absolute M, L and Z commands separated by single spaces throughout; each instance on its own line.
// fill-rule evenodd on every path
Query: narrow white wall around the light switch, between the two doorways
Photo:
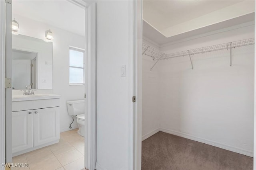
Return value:
M 97 3 L 97 170 L 132 169 L 132 23 L 132 1 Z

